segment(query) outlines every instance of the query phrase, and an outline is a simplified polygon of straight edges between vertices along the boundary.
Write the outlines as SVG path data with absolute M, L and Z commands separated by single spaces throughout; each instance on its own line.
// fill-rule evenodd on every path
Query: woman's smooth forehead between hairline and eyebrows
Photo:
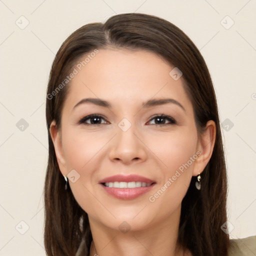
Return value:
M 174 66 L 150 51 L 98 49 L 83 55 L 74 68 L 77 73 L 69 84 L 69 107 L 83 97 L 103 98 L 118 107 L 141 106 L 150 98 L 166 96 L 187 107 L 190 104 L 182 76 L 174 80 L 169 74 Z

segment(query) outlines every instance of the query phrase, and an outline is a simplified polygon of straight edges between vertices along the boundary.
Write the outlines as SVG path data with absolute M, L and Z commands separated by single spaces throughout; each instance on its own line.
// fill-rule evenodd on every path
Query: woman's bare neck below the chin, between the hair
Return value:
M 179 214 L 177 214 L 179 213 Z M 164 222 L 155 223 L 143 230 L 130 229 L 126 233 L 109 229 L 89 217 L 93 241 L 90 256 L 183 256 L 191 255 L 184 249 L 176 249 L 180 210 Z

